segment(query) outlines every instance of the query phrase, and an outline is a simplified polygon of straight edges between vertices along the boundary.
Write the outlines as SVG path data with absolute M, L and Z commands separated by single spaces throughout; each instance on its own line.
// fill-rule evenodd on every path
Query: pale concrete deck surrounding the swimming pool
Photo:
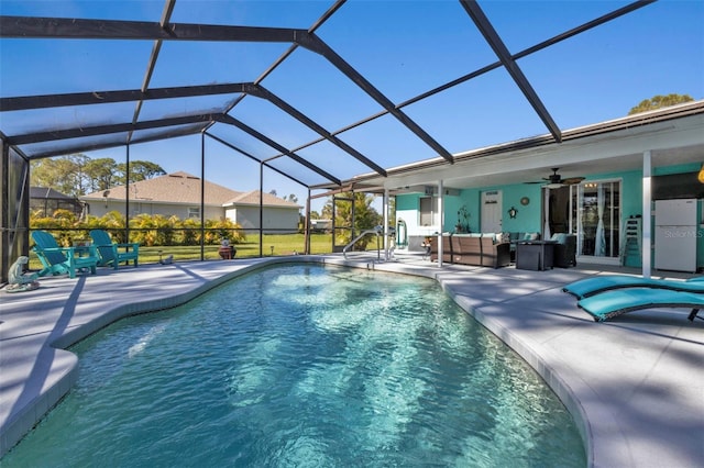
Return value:
M 42 279 L 31 292 L 1 291 L 0 454 L 75 383 L 77 358 L 62 348 L 122 316 L 180 304 L 262 265 L 316 261 L 437 279 L 550 385 L 573 414 L 591 466 L 704 465 L 704 321 L 688 321 L 689 311 L 653 309 L 595 323 L 560 289 L 608 272 L 596 265 L 526 271 L 438 268 L 413 255 L 387 263 L 374 258 L 295 256 L 103 268 L 95 276 Z

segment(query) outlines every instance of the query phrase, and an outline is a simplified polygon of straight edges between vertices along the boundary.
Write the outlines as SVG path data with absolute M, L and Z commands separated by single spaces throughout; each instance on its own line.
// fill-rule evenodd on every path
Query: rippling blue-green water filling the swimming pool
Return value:
M 431 280 L 270 268 L 73 350 L 78 385 L 3 467 L 586 465 L 557 397 Z

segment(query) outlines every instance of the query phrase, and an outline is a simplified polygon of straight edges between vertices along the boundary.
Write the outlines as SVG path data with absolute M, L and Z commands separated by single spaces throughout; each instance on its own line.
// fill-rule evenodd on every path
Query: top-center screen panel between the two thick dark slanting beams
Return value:
M 395 103 L 496 60 L 459 1 L 350 1 L 318 34 Z

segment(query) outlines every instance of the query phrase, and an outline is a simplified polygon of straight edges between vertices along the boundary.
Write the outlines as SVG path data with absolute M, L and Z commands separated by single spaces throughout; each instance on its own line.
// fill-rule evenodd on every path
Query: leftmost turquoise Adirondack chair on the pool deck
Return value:
M 32 250 L 44 266 L 40 276 L 68 274 L 69 278 L 76 278 L 76 271 L 88 268 L 92 275 L 96 274 L 96 247 L 59 247 L 54 236 L 46 231 L 33 231 L 32 238 L 35 244 Z

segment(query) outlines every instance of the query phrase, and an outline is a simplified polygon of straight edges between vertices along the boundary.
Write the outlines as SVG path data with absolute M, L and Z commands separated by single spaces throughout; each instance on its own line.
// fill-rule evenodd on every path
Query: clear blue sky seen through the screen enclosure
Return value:
M 327 1 L 184 1 L 173 22 L 308 29 L 331 5 Z M 627 2 L 481 1 L 480 5 L 508 49 L 518 53 Z M 163 2 L 7 1 L 4 15 L 79 16 L 158 21 Z M 654 94 L 704 98 L 704 2 L 661 0 L 518 62 L 561 129 L 625 115 Z M 496 62 L 496 56 L 458 1 L 350 0 L 317 32 L 344 60 L 395 103 L 409 100 L 464 74 Z M 254 81 L 288 44 L 207 44 L 165 42 L 152 77 L 154 87 Z M 152 43 L 148 41 L 0 41 L 0 92 L 3 97 L 136 89 L 141 87 Z M 262 85 L 328 131 L 338 131 L 382 108 L 322 57 L 298 47 Z M 151 101 L 142 119 L 158 119 L 221 108 L 233 97 Z M 131 120 L 134 104 L 3 112 L 0 130 L 23 134 L 46 127 Z M 496 69 L 440 94 L 404 108 L 451 153 L 548 133 L 508 74 Z M 287 148 L 317 135 L 267 101 L 246 97 L 231 112 Z M 275 149 L 243 132 L 218 124 L 212 133 L 260 158 Z M 339 135 L 383 167 L 427 159 L 435 153 L 389 115 Z M 167 171 L 200 175 L 200 137 L 133 145 L 132 159 L 161 164 Z M 258 188 L 258 164 L 207 141 L 206 178 L 234 190 Z M 124 158 L 124 148 L 87 153 Z M 323 143 L 299 154 L 345 179 L 369 172 L 361 163 Z M 323 179 L 278 158 L 277 168 L 306 183 Z M 306 189 L 273 171 L 264 190 L 295 193 Z M 319 209 L 321 202 L 315 203 Z

